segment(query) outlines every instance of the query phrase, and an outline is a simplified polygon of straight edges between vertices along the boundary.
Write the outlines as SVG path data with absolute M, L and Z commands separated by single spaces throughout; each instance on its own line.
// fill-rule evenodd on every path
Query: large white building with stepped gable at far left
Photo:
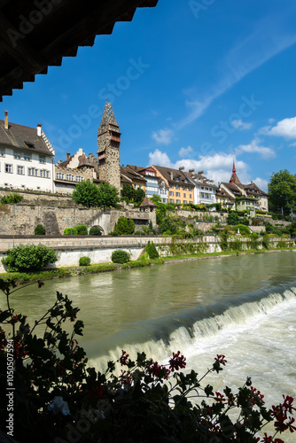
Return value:
M 0 186 L 20 190 L 54 191 L 54 149 L 42 126 L 0 120 Z

